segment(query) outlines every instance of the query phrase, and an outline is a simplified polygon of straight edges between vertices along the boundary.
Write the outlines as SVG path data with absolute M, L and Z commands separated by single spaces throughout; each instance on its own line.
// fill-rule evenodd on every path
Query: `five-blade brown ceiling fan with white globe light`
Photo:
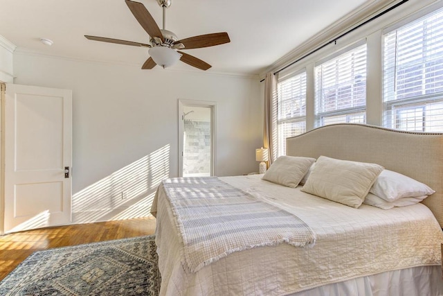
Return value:
M 90 35 L 84 35 L 84 37 L 87 37 L 89 40 L 149 48 L 148 52 L 151 57 L 146 60 L 141 69 L 152 69 L 156 64 L 163 68 L 170 67 L 181 60 L 192 67 L 206 71 L 211 67 L 210 64 L 192 55 L 188 55 L 188 53 L 183 53 L 179 49 L 200 49 L 230 42 L 226 32 L 198 35 L 179 40 L 177 35 L 165 29 L 165 11 L 166 8 L 171 6 L 171 0 L 157 0 L 159 6 L 163 8 L 163 29 L 157 26 L 154 18 L 142 3 L 131 0 L 125 0 L 125 2 L 138 23 L 150 35 L 150 44 Z

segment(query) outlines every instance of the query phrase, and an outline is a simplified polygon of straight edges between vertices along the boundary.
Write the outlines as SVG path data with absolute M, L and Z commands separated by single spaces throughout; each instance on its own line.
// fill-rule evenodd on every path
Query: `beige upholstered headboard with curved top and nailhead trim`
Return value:
M 443 227 L 443 133 L 403 132 L 352 123 L 326 125 L 286 140 L 287 155 L 380 164 L 431 186 L 423 201 Z

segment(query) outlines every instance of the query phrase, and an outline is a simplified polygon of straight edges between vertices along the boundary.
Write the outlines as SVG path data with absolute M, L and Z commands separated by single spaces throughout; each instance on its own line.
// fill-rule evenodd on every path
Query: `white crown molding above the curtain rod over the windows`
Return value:
M 338 19 L 338 21 L 332 24 L 332 26 L 329 26 L 326 30 L 314 35 L 307 42 L 303 42 L 300 46 L 297 46 L 282 58 L 273 62 L 273 64 L 266 68 L 264 73 L 260 73 L 260 78 L 265 77 L 266 73 L 269 71 L 278 71 L 278 69 L 287 66 L 294 60 L 302 58 L 302 56 L 306 55 L 313 49 L 317 49 L 318 47 L 323 46 L 323 44 L 331 42 L 346 31 L 359 26 L 359 24 L 370 19 L 370 17 L 377 15 L 377 13 L 398 2 L 400 2 L 400 0 L 372 0 L 363 4 L 363 6 L 352 10 L 341 19 Z

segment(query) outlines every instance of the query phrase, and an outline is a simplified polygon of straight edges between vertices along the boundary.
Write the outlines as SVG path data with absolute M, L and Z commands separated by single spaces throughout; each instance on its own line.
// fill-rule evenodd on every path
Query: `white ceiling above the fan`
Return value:
M 162 10 L 156 0 L 138 1 L 161 28 Z M 369 2 L 374 0 L 172 0 L 166 29 L 179 39 L 228 32 L 230 43 L 186 53 L 213 65 L 210 72 L 254 75 Z M 1 0 L 0 35 L 21 52 L 140 67 L 149 57 L 144 48 L 84 37 L 149 43 L 124 0 Z M 54 44 L 42 44 L 41 37 Z M 193 69 L 182 62 L 173 67 Z

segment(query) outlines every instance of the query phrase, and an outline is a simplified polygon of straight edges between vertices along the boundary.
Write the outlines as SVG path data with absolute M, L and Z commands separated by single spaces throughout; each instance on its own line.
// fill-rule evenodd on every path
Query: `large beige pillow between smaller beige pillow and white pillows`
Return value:
M 358 208 L 383 166 L 320 156 L 302 191 Z

